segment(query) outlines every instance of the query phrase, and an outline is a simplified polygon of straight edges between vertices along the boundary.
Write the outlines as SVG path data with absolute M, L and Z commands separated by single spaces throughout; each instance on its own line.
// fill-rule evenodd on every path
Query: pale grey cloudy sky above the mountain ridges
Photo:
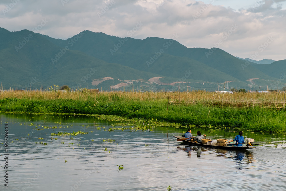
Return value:
M 139 39 L 177 34 L 188 48 L 286 59 L 286 0 L 1 0 L 0 10 L 0 27 L 9 31 L 61 39 L 84 30 Z

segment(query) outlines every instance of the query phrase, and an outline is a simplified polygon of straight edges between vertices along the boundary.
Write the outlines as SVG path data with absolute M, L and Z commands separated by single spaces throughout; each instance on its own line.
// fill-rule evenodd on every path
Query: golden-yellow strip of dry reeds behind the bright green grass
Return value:
M 207 91 L 189 91 L 189 92 L 123 92 L 123 91 L 111 91 L 111 92 L 100 92 L 95 94 L 89 91 L 74 91 L 74 92 L 63 92 L 63 91 L 15 91 L 6 90 L 1 91 L 0 99 L 5 98 L 17 98 L 17 99 L 74 99 L 86 101 L 88 96 L 102 97 L 104 96 L 109 101 L 113 99 L 126 99 L 132 101 L 166 101 L 169 97 L 169 102 L 182 102 L 182 103 L 284 103 L 285 92 L 269 92 L 269 93 L 258 93 L 258 92 L 235 92 L 234 94 L 229 93 L 217 93 Z

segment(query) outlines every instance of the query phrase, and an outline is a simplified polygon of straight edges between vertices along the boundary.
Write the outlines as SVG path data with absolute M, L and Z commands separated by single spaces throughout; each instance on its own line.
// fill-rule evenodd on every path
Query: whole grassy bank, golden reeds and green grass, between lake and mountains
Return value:
M 10 94 L 10 95 L 9 95 Z M 213 96 L 213 99 L 211 99 Z M 103 114 L 121 117 L 145 118 L 180 123 L 182 125 L 218 126 L 239 128 L 242 130 L 262 132 L 286 132 L 286 114 L 283 108 L 273 106 L 260 108 L 254 103 L 278 102 L 284 99 L 284 94 L 225 94 L 224 103 L 237 101 L 252 102 L 251 107 L 221 107 L 222 95 L 211 92 L 170 93 L 169 101 L 178 104 L 167 104 L 168 93 L 154 92 L 2 92 L 0 111 L 27 113 L 76 113 Z M 261 98 L 264 96 L 265 98 Z M 266 98 L 267 96 L 267 98 Z M 188 101 L 187 101 L 188 99 Z M 243 101 L 244 99 L 244 101 Z M 263 101 L 264 100 L 264 101 Z M 187 104 L 189 102 L 192 104 Z M 209 104 L 213 103 L 213 104 Z M 168 110 L 167 110 L 168 109 Z

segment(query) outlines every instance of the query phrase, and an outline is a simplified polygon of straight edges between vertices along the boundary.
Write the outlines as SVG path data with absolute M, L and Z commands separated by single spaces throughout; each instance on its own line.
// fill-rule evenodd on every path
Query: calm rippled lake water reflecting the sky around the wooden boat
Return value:
M 109 132 L 113 124 L 93 117 L 2 113 L 0 122 L 0 143 L 9 124 L 8 152 L 4 145 L 0 150 L 0 190 L 286 190 L 285 135 L 245 132 L 266 146 L 241 152 L 191 147 L 172 137 L 186 129 Z M 88 134 L 51 136 L 79 130 Z M 211 139 L 237 134 L 192 133 L 198 130 Z

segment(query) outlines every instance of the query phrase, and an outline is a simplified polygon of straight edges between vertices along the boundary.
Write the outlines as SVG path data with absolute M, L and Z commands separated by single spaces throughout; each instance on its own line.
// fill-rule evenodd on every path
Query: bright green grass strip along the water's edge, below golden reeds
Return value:
M 286 113 L 277 109 L 249 109 L 228 107 L 207 107 L 201 104 L 192 106 L 169 105 L 159 101 L 132 101 L 122 97 L 107 98 L 97 96 L 87 101 L 81 100 L 29 100 L 2 99 L 0 111 L 26 113 L 75 113 L 115 115 L 129 119 L 145 119 L 196 125 L 210 128 L 236 128 L 241 130 L 285 133 Z M 208 114 L 209 113 L 209 114 Z

